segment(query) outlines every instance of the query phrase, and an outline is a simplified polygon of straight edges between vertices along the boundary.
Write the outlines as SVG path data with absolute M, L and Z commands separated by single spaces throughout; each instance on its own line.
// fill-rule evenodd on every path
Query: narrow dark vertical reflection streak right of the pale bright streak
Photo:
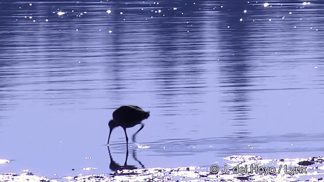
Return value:
M 249 59 L 250 40 L 247 34 L 251 33 L 245 22 L 239 22 L 245 7 L 243 1 L 224 2 L 223 19 L 221 24 L 228 24 L 230 28 L 221 31 L 220 41 L 226 42 L 220 49 L 224 53 L 220 59 L 220 73 L 223 93 L 223 102 L 228 103 L 224 108 L 232 116 L 232 135 L 238 137 L 248 136 L 251 131 L 248 129 L 247 120 L 251 119 L 249 111 L 250 95 L 246 89 L 251 86 L 251 63 Z M 228 11 L 229 10 L 229 11 Z

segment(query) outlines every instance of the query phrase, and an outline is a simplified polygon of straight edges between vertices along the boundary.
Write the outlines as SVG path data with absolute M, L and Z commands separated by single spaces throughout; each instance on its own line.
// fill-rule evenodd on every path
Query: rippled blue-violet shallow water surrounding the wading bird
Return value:
M 111 172 L 124 104 L 138 168 L 322 155 L 324 4 L 230 2 L 1 1 L 0 173 Z

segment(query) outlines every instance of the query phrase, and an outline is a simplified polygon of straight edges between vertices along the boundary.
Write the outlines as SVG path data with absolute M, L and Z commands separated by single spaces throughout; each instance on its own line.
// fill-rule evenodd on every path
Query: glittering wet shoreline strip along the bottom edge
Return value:
M 1 181 L 321 181 L 324 178 L 324 157 L 303 159 L 262 159 L 260 156 L 229 156 L 231 163 L 214 168 L 177 167 L 123 169 L 110 174 L 90 174 L 48 178 L 31 172 L 0 174 Z M 215 166 L 217 167 L 215 168 Z M 273 171 L 274 169 L 274 171 Z M 280 170 L 280 172 L 278 172 Z M 225 172 L 226 171 L 226 172 Z

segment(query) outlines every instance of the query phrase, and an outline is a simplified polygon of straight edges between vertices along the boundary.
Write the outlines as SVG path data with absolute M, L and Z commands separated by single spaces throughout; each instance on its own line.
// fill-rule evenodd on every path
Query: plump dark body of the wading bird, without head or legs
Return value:
M 142 108 L 133 105 L 120 106 L 112 113 L 114 123 L 117 126 L 125 128 L 133 127 L 149 116 L 149 112 L 143 111 Z

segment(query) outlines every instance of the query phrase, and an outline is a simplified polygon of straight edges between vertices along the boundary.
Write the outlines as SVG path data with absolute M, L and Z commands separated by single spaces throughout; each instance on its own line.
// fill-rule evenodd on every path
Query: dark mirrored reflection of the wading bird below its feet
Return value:
M 135 165 L 127 165 L 127 159 L 128 159 L 128 149 L 126 150 L 126 158 L 125 158 L 125 163 L 124 165 L 119 165 L 118 163 L 116 163 L 111 156 L 110 150 L 109 150 L 109 146 L 107 146 L 108 148 L 108 152 L 109 152 L 109 157 L 110 157 L 110 165 L 109 168 L 113 171 L 117 171 L 117 170 L 123 170 L 123 169 L 129 169 L 129 170 L 133 170 L 133 169 L 137 169 L 138 167 L 136 167 Z M 136 157 L 136 149 L 132 150 L 133 153 L 133 158 L 134 160 L 136 160 L 142 168 L 145 168 L 144 165 L 141 163 L 141 161 L 139 161 Z

